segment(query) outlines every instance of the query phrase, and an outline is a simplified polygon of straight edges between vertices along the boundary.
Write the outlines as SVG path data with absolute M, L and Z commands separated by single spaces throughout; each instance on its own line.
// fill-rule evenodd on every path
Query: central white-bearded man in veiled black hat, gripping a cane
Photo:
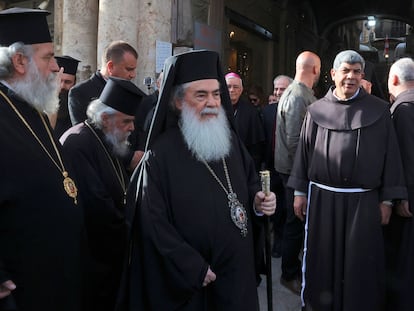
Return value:
M 130 188 L 130 309 L 258 310 L 252 222 L 275 195 L 234 130 L 218 54 L 173 56 L 164 75 Z

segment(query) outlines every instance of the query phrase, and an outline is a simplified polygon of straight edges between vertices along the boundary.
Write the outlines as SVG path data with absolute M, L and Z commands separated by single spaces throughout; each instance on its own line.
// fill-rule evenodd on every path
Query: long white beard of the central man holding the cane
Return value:
M 217 117 L 200 121 L 194 109 L 184 102 L 180 117 L 181 132 L 188 148 L 198 160 L 217 161 L 230 153 L 230 126 L 222 107 L 204 108 L 201 115 L 205 113 L 216 113 Z

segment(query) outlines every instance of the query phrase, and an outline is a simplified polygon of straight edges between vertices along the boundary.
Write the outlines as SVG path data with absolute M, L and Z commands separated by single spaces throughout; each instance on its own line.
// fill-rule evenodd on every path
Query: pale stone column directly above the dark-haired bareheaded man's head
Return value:
M 137 0 L 100 0 L 98 24 L 98 63 L 106 46 L 115 40 L 124 40 L 140 51 L 138 43 L 137 20 L 141 12 Z

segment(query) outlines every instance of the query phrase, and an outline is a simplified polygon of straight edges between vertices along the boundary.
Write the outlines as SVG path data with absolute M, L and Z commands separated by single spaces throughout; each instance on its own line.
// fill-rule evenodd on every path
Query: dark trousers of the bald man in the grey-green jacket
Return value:
M 299 253 L 303 247 L 304 223 L 293 210 L 294 189 L 287 186 L 289 175 L 280 174 L 285 187 L 286 223 L 282 241 L 282 277 L 286 281 L 301 275 Z

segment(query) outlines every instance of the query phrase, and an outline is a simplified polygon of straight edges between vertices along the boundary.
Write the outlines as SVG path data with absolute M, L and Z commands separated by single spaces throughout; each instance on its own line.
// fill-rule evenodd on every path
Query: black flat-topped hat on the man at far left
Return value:
M 37 44 L 52 42 L 46 16 L 50 12 L 39 9 L 10 8 L 0 11 L 0 45 L 15 42 Z

